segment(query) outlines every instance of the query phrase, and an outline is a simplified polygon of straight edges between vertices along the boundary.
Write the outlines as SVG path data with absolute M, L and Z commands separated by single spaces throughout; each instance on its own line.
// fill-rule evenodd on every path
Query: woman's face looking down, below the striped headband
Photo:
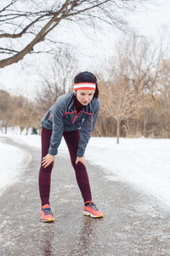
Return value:
M 89 102 L 93 99 L 94 90 L 77 90 L 77 100 L 81 102 L 82 105 L 87 106 Z

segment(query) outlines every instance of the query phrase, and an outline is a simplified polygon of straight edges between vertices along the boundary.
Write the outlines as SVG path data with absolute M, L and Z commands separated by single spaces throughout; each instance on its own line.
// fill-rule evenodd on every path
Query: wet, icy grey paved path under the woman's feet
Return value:
M 170 255 L 170 211 L 127 182 L 109 181 L 87 164 L 94 202 L 105 213 L 82 215 L 82 196 L 69 156 L 57 156 L 50 202 L 54 223 L 40 220 L 37 186 L 40 150 L 13 143 L 32 154 L 31 163 L 0 197 L 0 255 L 134 256 Z

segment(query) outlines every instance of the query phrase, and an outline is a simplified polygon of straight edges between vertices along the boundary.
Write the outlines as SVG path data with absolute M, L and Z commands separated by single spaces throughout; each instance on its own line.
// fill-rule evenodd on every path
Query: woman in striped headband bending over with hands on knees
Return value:
M 93 73 L 79 73 L 73 91 L 59 96 L 54 106 L 42 118 L 42 165 L 39 172 L 39 191 L 43 222 L 54 221 L 49 205 L 50 178 L 62 136 L 69 149 L 77 183 L 84 201 L 84 215 L 101 218 L 103 213 L 94 205 L 84 152 L 94 131 L 99 113 L 99 90 Z

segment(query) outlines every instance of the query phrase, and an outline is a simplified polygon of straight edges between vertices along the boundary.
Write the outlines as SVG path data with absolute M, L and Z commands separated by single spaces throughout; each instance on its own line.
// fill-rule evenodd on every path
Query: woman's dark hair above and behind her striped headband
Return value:
M 94 92 L 94 97 L 98 98 L 99 97 L 99 88 L 98 88 L 98 84 L 97 84 L 97 79 L 93 73 L 85 71 L 85 72 L 77 74 L 77 76 L 74 79 L 74 83 L 86 83 L 86 82 L 96 84 L 96 90 Z

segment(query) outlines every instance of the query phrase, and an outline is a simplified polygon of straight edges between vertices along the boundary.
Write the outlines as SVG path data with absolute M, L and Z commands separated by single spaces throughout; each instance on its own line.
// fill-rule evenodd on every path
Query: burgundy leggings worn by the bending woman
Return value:
M 50 143 L 52 131 L 42 127 L 42 157 L 48 154 L 48 148 Z M 81 163 L 78 162 L 77 165 L 75 161 L 77 159 L 77 148 L 78 148 L 78 141 L 80 137 L 80 131 L 65 131 L 63 133 L 63 137 L 65 138 L 65 143 L 69 149 L 69 153 L 71 156 L 71 164 L 75 169 L 77 183 L 79 189 L 82 193 L 83 201 L 91 201 L 91 190 L 88 181 L 88 172 L 86 167 Z M 39 172 L 39 191 L 40 197 L 42 201 L 42 206 L 45 204 L 49 204 L 49 193 L 50 193 L 50 183 L 51 183 L 51 172 L 53 169 L 53 163 L 50 164 L 48 167 L 44 168 L 41 166 Z

